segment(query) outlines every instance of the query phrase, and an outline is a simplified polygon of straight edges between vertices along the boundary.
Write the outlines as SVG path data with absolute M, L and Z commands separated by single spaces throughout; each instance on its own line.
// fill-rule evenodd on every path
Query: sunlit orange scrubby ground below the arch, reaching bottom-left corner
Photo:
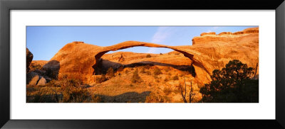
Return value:
M 158 69 L 157 72 L 155 69 Z M 172 77 L 170 73 L 175 76 Z M 182 103 L 177 83 L 191 75 L 179 77 L 181 73 L 183 72 L 178 69 L 150 65 L 121 67 L 120 70 L 113 71 L 117 76 L 108 79 L 104 75 L 98 75 L 97 82 L 90 86 L 76 79 L 61 76 L 60 80 L 53 80 L 45 86 L 27 86 L 27 102 Z M 138 77 L 134 74 L 138 74 Z M 198 85 L 195 91 L 199 91 Z

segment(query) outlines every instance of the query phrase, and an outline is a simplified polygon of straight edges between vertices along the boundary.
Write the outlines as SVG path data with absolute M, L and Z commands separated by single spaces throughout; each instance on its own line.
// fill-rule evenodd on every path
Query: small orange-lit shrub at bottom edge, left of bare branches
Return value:
M 145 103 L 169 103 L 170 99 L 167 96 L 161 96 L 154 93 L 150 93 L 149 96 L 146 97 Z

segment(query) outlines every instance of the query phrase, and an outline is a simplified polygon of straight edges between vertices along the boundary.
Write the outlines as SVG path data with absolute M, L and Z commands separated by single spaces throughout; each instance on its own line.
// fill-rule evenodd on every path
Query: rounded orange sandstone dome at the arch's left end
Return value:
M 70 78 L 89 82 L 93 78 L 94 69 L 92 66 L 95 64 L 95 55 L 102 48 L 83 42 L 68 43 L 51 60 L 56 60 L 60 64 L 58 76 L 66 74 Z

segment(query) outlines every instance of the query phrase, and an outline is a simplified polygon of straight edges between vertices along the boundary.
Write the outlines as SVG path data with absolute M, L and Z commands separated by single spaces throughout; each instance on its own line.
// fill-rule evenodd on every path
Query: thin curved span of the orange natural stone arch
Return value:
M 139 47 L 139 46 L 170 48 L 172 50 L 175 50 L 177 52 L 182 53 L 185 57 L 188 57 L 190 60 L 192 60 L 192 64 L 193 63 L 201 64 L 193 58 L 194 55 L 190 54 L 190 52 L 187 52 L 187 51 L 181 49 L 180 46 L 160 45 L 160 44 L 155 44 L 155 43 L 145 43 L 145 42 L 138 42 L 138 41 L 125 41 L 123 43 L 118 43 L 116 45 L 102 47 L 102 49 L 95 55 L 95 64 L 93 65 L 93 69 L 98 67 L 98 62 L 100 60 L 100 57 L 102 57 L 105 53 L 110 52 L 110 51 L 123 50 L 123 49 L 129 48 L 129 47 Z M 205 69 L 205 70 L 206 70 L 206 72 L 208 72 L 207 69 Z M 95 74 L 95 71 L 93 72 L 93 74 Z

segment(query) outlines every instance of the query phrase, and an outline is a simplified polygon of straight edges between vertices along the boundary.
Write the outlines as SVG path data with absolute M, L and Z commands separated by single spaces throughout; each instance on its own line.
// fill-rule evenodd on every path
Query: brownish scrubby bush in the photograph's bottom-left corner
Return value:
M 92 98 L 81 80 L 67 79 L 51 80 L 44 87 L 37 87 L 34 94 L 27 92 L 27 102 L 33 103 L 81 103 L 90 102 Z

